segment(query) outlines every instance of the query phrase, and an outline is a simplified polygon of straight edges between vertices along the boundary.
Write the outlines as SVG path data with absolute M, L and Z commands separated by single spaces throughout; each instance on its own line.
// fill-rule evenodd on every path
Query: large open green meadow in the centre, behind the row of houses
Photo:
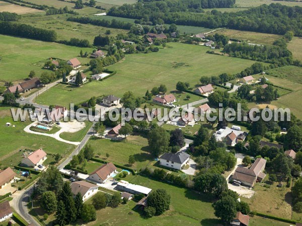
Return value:
M 126 55 L 123 61 L 107 67 L 116 70 L 116 75 L 103 81 L 89 82 L 80 88 L 59 84 L 41 94 L 37 102 L 68 105 L 71 101 L 79 103 L 91 96 L 114 94 L 121 97 L 128 90 L 144 96 L 147 89 L 162 83 L 168 90 L 175 90 L 177 81 L 188 81 L 194 87 L 201 75 L 238 73 L 255 62 L 207 54 L 207 50 L 204 46 L 169 43 L 157 53 Z

